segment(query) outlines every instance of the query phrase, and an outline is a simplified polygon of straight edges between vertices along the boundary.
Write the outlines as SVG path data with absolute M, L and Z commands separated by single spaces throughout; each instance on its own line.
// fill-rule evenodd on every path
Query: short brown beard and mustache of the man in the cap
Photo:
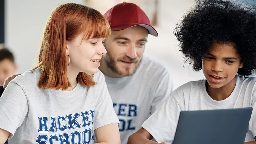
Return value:
M 115 72 L 116 74 L 120 75 L 120 76 L 130 76 L 130 75 L 133 75 L 136 70 L 137 70 L 137 67 L 139 66 L 139 63 L 140 63 L 140 59 L 138 58 L 134 58 L 134 59 L 131 59 L 129 58 L 128 56 L 124 56 L 122 58 L 118 58 L 116 61 L 114 60 L 113 56 L 111 55 L 111 52 L 108 51 L 108 53 L 104 56 L 105 58 L 105 61 L 106 61 L 106 64 L 107 64 L 107 67 L 110 68 L 113 72 Z M 124 68 L 124 71 L 118 69 L 118 66 L 117 66 L 117 62 L 118 61 L 123 61 L 123 62 L 132 62 L 133 64 L 135 64 L 135 67 L 133 68 L 132 71 L 131 68 L 129 67 L 126 67 Z M 128 73 L 126 73 L 128 72 Z

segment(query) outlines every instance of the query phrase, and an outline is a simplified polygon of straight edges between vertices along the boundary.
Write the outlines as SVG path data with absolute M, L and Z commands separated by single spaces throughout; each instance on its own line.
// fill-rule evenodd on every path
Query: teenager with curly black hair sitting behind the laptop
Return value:
M 253 6 L 198 0 L 175 29 L 181 52 L 205 80 L 188 82 L 128 139 L 128 144 L 171 143 L 180 111 L 253 107 L 245 143 L 255 144 L 256 13 Z M 157 142 L 151 141 L 154 138 Z

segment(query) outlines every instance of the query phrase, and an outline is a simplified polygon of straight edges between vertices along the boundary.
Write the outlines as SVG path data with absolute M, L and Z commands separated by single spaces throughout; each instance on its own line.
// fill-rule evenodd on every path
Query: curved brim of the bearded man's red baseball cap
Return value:
M 149 31 L 149 34 L 156 36 L 156 37 L 158 36 L 158 33 L 155 30 L 155 28 L 153 28 L 152 26 L 147 25 L 147 24 L 125 24 L 125 25 L 111 27 L 111 30 L 119 31 L 119 30 L 124 30 L 124 29 L 130 28 L 130 27 L 133 27 L 133 26 L 142 26 Z

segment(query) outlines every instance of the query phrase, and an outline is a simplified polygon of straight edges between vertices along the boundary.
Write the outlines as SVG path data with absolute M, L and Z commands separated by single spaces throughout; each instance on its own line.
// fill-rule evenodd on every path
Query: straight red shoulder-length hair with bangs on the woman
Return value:
M 106 18 L 93 8 L 75 3 L 57 7 L 48 18 L 39 51 L 39 64 L 33 68 L 41 70 L 38 87 L 63 90 L 70 87 L 66 42 L 81 33 L 85 33 L 84 39 L 89 39 L 108 38 L 110 32 Z M 77 75 L 77 80 L 85 87 L 96 84 L 93 75 L 84 72 Z

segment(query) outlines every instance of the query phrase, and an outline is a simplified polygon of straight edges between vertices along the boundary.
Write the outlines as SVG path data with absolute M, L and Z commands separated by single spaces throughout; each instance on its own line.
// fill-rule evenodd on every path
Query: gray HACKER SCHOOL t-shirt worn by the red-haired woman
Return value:
M 39 69 L 17 76 L 0 98 L 8 144 L 92 144 L 95 129 L 119 123 L 102 72 L 94 75 L 95 86 L 78 83 L 71 91 L 42 90 L 39 76 Z

